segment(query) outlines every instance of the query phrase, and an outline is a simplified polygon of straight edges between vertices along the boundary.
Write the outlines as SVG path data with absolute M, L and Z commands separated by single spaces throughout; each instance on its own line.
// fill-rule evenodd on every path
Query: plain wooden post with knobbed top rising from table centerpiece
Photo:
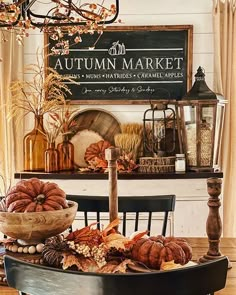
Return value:
M 108 161 L 109 175 L 109 214 L 110 222 L 118 218 L 118 197 L 117 197 L 117 167 L 116 161 L 120 156 L 120 149 L 110 147 L 105 150 L 105 158 Z M 116 228 L 118 230 L 118 228 Z

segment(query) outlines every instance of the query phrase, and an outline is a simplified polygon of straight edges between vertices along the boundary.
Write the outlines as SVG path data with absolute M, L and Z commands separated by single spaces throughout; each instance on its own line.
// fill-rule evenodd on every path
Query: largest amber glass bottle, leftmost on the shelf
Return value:
M 35 116 L 34 129 L 24 137 L 24 170 L 44 171 L 44 154 L 47 138 L 43 128 L 43 116 Z

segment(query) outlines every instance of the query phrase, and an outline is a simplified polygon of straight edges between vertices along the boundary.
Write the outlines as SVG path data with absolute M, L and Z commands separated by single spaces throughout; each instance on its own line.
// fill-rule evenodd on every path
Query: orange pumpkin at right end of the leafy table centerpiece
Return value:
M 184 239 L 159 235 L 139 239 L 132 248 L 131 258 L 154 269 L 171 260 L 184 265 L 192 258 L 192 248 Z

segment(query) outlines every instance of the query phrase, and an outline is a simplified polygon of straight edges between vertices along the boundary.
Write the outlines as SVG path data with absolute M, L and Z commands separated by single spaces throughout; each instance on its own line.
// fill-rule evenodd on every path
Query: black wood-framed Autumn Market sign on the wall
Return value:
M 109 27 L 91 50 L 95 35 L 83 36 L 68 55 L 48 55 L 48 66 L 79 82 L 69 85 L 72 102 L 178 100 L 191 87 L 192 25 Z M 45 42 L 50 52 L 55 41 Z

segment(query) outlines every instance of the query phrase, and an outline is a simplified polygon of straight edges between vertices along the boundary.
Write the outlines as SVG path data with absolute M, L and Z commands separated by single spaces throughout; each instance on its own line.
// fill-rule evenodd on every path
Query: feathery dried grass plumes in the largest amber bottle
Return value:
M 33 113 L 35 116 L 56 111 L 65 102 L 67 94 L 71 94 L 65 83 L 78 84 L 73 78 L 63 77 L 54 69 L 45 67 L 43 54 L 38 50 L 36 60 L 36 64 L 27 65 L 24 71 L 25 74 L 32 75 L 32 80 L 15 81 L 11 85 L 10 117 L 17 117 L 19 109 L 23 110 L 24 115 Z

